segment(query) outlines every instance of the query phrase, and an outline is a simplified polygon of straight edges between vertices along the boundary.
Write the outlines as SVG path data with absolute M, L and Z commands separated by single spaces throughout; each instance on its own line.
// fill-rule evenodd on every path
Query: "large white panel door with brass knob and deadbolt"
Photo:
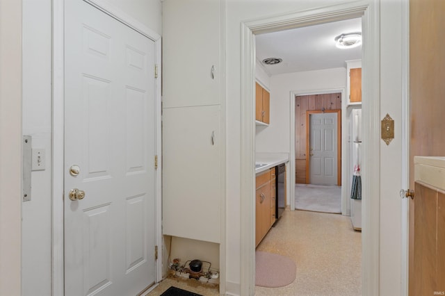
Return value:
M 88 3 L 65 1 L 67 296 L 154 283 L 154 50 Z M 83 199 L 69 198 L 74 188 Z

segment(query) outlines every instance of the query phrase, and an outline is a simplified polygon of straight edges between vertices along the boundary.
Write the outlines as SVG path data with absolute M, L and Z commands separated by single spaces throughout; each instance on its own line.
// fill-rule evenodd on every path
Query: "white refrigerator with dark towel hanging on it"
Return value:
M 362 109 L 350 113 L 350 220 L 355 230 L 362 230 Z

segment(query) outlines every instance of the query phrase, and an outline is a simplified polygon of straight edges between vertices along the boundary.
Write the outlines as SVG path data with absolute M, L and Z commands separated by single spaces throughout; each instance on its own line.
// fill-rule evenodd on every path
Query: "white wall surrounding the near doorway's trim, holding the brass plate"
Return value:
M 381 113 L 382 117 L 387 112 L 400 114 L 401 110 L 401 0 L 381 1 L 382 6 L 378 9 L 381 13 L 380 24 L 382 33 L 380 44 L 380 70 L 382 76 L 382 86 L 380 95 L 382 96 Z M 240 217 L 239 211 L 241 197 L 240 166 L 241 166 L 241 36 L 240 23 L 261 17 L 282 15 L 296 11 L 318 8 L 321 6 L 331 6 L 342 1 L 236 1 L 227 0 L 227 292 L 236 295 L 240 284 Z M 364 3 L 362 1 L 357 1 Z M 372 1 L 378 5 L 380 1 Z M 378 25 L 377 24 L 377 25 Z M 390 36 L 393 36 L 391 38 Z M 394 36 L 396 36 L 394 38 Z M 383 63 L 385 62 L 385 63 Z M 385 114 L 384 114 L 385 113 Z M 273 120 L 273 117 L 272 119 Z M 396 136 L 401 135 L 400 117 L 396 118 Z M 399 124 L 397 124 L 399 122 Z M 279 141 L 285 143 L 285 140 Z M 380 161 L 382 170 L 380 178 L 382 187 L 380 197 L 370 198 L 380 199 L 382 202 L 380 220 L 373 221 L 380 227 L 380 295 L 400 295 L 401 281 L 401 246 L 400 246 L 400 219 L 398 215 L 401 211 L 401 202 L 394 196 L 396 187 L 400 187 L 401 165 L 398 159 L 401 145 L 398 141 L 393 141 L 389 147 L 381 147 Z M 398 154 L 397 154 L 398 153 Z M 389 161 L 395 160 L 395 161 Z M 387 170 L 387 163 L 391 163 L 391 170 Z M 397 199 L 397 200 L 396 200 Z M 387 260 L 386 262 L 383 262 Z M 372 271 L 371 271 L 372 272 Z M 384 278 L 385 277 L 385 278 Z

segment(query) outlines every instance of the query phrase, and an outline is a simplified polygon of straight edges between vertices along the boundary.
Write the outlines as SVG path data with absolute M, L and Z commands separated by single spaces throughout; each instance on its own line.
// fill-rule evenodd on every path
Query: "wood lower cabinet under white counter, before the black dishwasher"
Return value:
M 275 167 L 257 176 L 255 194 L 255 246 L 275 223 Z

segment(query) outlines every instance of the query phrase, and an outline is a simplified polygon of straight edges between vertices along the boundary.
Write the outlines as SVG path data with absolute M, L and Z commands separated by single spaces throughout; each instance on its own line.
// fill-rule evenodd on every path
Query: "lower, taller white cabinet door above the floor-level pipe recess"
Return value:
M 163 233 L 220 242 L 220 106 L 163 110 Z

